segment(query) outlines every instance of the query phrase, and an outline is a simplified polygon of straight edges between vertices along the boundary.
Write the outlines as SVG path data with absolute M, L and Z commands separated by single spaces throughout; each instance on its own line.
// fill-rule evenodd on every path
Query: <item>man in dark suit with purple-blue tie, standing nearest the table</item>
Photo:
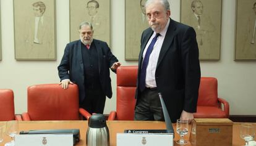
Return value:
M 164 120 L 160 92 L 171 121 L 190 122 L 200 83 L 195 30 L 169 18 L 167 0 L 148 0 L 145 7 L 151 28 L 141 38 L 134 120 Z

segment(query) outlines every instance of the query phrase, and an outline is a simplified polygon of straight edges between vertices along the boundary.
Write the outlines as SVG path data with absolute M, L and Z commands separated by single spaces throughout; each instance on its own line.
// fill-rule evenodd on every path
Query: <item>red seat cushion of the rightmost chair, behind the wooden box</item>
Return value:
M 197 106 L 194 118 L 227 118 L 227 115 L 218 107 Z

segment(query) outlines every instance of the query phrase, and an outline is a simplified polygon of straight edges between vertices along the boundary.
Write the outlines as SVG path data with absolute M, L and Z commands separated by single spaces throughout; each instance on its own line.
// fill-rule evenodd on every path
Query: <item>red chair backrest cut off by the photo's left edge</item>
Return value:
M 0 121 L 14 120 L 14 92 L 0 89 Z

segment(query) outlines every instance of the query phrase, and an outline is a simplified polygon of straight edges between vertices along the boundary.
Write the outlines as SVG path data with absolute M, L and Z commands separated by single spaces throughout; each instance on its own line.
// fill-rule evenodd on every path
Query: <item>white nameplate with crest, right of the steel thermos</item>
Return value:
M 173 146 L 173 134 L 170 133 L 152 133 L 152 134 L 134 134 L 117 133 L 117 146 Z

